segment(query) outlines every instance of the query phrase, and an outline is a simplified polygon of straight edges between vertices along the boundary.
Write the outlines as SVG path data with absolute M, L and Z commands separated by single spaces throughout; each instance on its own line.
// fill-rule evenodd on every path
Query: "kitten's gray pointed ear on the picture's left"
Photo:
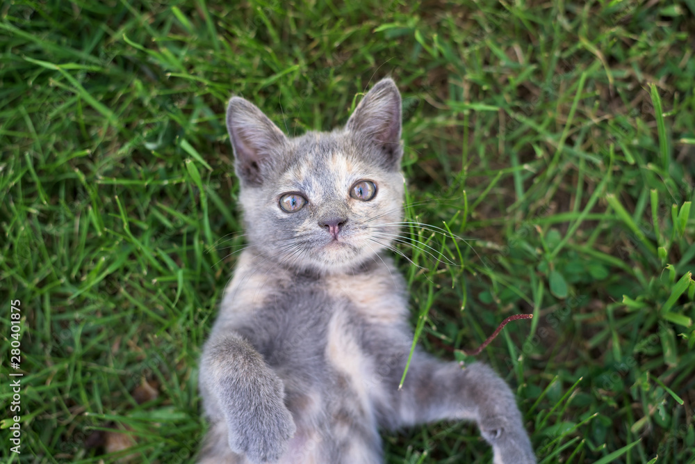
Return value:
M 263 184 L 288 143 L 282 131 L 256 105 L 241 97 L 232 97 L 227 106 L 227 131 L 234 148 L 236 175 L 247 184 Z

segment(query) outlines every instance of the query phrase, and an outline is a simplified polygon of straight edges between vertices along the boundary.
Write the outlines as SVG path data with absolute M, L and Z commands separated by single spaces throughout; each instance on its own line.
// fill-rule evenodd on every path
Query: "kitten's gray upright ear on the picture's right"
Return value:
M 398 169 L 403 155 L 400 144 L 401 101 L 393 79 L 382 79 L 364 96 L 345 128 L 359 140 L 371 141 L 382 154 L 385 168 Z

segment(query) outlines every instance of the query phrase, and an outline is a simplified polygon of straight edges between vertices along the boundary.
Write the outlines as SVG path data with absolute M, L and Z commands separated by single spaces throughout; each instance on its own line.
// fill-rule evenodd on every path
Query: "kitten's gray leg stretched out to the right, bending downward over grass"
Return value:
M 401 371 L 402 373 L 402 371 Z M 493 447 L 496 464 L 536 462 L 512 390 L 488 366 L 475 363 L 461 369 L 416 353 L 397 399 L 397 425 L 469 419 Z

